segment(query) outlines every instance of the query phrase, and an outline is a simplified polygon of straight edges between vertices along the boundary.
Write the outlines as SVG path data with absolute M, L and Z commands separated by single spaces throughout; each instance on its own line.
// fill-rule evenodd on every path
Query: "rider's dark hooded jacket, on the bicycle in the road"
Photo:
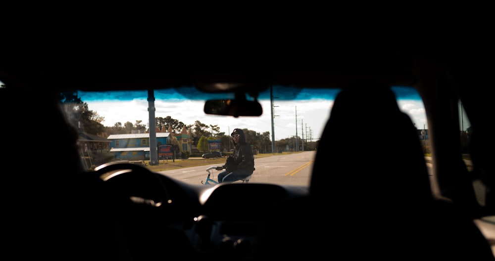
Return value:
M 234 152 L 227 157 L 227 162 L 223 167 L 227 170 L 227 173 L 239 169 L 254 171 L 254 156 L 251 146 L 246 142 L 246 135 L 241 129 L 235 129 L 232 134 L 235 134 L 235 132 L 239 134 L 239 142 L 236 144 L 234 141 Z

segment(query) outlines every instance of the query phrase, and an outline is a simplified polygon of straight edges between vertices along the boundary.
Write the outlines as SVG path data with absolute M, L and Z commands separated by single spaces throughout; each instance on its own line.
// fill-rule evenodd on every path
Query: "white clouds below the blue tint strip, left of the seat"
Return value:
M 148 126 L 148 101 L 135 99 L 130 101 L 86 101 L 88 108 L 104 117 L 104 126 L 113 126 L 115 123 L 135 123 L 141 120 Z M 275 106 L 274 132 L 275 140 L 296 135 L 296 106 L 297 106 L 297 134 L 301 136 L 303 131 L 301 122 L 306 131 L 312 133 L 314 138 L 319 138 L 326 119 L 330 113 L 332 101 L 277 101 Z M 261 101 L 263 114 L 260 117 L 226 117 L 208 115 L 203 112 L 203 101 L 155 101 L 155 117 L 170 116 L 186 125 L 200 121 L 206 125 L 218 125 L 221 132 L 229 133 L 235 128 L 249 129 L 259 133 L 272 132 L 270 101 Z

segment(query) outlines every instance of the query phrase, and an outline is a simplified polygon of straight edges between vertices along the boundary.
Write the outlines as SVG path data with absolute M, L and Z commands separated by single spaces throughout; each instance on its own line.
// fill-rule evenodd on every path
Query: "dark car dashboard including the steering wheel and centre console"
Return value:
M 86 175 L 102 180 L 109 204 L 104 209 L 119 214 L 115 226 L 136 255 L 156 246 L 164 252 L 188 250 L 191 257 L 252 260 L 267 243 L 267 228 L 276 218 L 290 217 L 291 202 L 308 197 L 305 186 L 192 185 L 134 164 L 106 164 Z M 140 238 L 145 239 L 135 242 Z

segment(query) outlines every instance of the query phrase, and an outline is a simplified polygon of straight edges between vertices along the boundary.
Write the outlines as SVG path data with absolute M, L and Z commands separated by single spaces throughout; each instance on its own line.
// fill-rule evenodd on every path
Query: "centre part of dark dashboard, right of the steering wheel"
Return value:
M 270 218 L 284 213 L 280 206 L 306 197 L 303 187 L 275 184 L 219 184 L 203 190 L 201 215 L 195 217 L 193 244 L 212 255 L 256 256 Z

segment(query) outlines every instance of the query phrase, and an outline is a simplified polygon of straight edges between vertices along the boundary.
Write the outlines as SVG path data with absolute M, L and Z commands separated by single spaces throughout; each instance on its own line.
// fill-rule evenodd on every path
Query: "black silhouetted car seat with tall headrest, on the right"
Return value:
M 311 230 L 333 243 L 311 249 L 357 259 L 493 260 L 473 220 L 433 197 L 416 128 L 394 92 L 358 85 L 337 95 L 317 148 L 308 213 L 325 220 Z

